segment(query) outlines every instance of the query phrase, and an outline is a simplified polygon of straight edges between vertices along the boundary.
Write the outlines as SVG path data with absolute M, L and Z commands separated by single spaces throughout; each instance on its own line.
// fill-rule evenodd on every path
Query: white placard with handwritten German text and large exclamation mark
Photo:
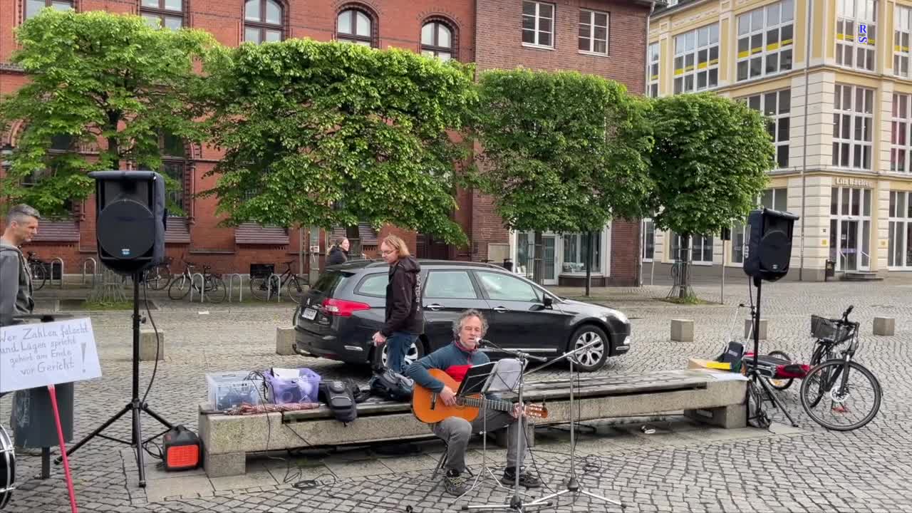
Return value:
M 91 319 L 0 328 L 0 392 L 99 377 Z

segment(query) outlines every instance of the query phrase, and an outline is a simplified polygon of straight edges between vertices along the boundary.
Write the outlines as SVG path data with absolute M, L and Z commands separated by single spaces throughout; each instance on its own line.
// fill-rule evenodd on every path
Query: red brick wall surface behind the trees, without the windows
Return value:
M 648 5 L 629 0 L 586 1 L 562 0 L 554 5 L 554 49 L 543 50 L 522 44 L 523 0 L 332 0 L 327 2 L 290 2 L 283 5 L 283 37 L 311 37 L 330 40 L 337 37 L 337 14 L 349 7 L 365 13 L 372 21 L 371 39 L 375 47 L 404 47 L 420 51 L 421 26 L 431 20 L 442 21 L 453 30 L 454 57 L 463 62 L 476 62 L 480 69 L 527 68 L 578 69 L 617 79 L 627 89 L 643 90 L 645 70 L 646 20 Z M 75 0 L 78 11 L 104 9 L 110 12 L 140 11 L 140 1 Z M 244 0 L 216 2 L 184 0 L 183 25 L 211 32 L 223 45 L 236 46 L 244 39 Z M 580 8 L 608 13 L 608 55 L 595 57 L 577 51 Z M 13 31 L 25 16 L 24 0 L 0 0 L 0 94 L 9 94 L 25 82 L 23 75 L 9 64 L 15 48 Z M 16 145 L 16 131 L 0 135 L 0 146 Z M 212 148 L 188 149 L 185 166 L 185 191 L 188 196 L 212 186 L 214 178 L 204 178 L 219 152 Z M 0 171 L 2 172 L 2 171 Z M 463 226 L 472 245 L 467 248 L 442 248 L 435 255 L 481 260 L 488 256 L 487 245 L 509 241 L 503 222 L 492 210 L 490 198 L 474 191 L 458 194 L 459 210 L 454 218 Z M 189 259 L 209 264 L 219 272 L 246 273 L 251 263 L 280 263 L 293 259 L 301 245 L 299 231 L 288 231 L 287 244 L 278 246 L 246 245 L 235 241 L 234 230 L 218 226 L 214 215 L 215 198 L 194 198 L 187 204 L 186 218 L 171 221 L 172 229 L 182 234 L 173 236 L 168 254 L 177 262 Z M 46 240 L 34 243 L 39 257 L 62 257 L 66 272 L 80 272 L 83 262 L 95 254 L 95 204 L 89 199 L 74 208 L 78 225 L 78 242 Z M 186 226 L 183 228 L 183 226 Z M 629 284 L 636 279 L 638 224 L 616 222 L 612 233 L 611 277 L 606 284 Z M 178 229 L 180 228 L 180 230 Z M 411 232 L 387 227 L 388 233 L 404 236 L 409 246 L 430 255 L 430 239 Z M 189 234 L 189 237 L 187 236 Z M 325 254 L 325 236 L 321 236 L 321 254 Z M 188 242 L 189 239 L 189 242 Z M 374 256 L 372 247 L 366 248 Z M 627 253 L 630 253 L 627 255 Z M 322 257 L 321 257 L 322 265 Z M 180 264 L 177 265 L 180 267 Z M 281 268 L 281 267 L 280 267 Z

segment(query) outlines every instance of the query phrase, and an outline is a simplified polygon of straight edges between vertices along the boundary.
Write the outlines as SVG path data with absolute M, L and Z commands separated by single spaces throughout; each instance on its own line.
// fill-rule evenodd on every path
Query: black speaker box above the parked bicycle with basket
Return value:
M 744 258 L 744 273 L 748 276 L 776 281 L 789 272 L 792 259 L 792 230 L 797 215 L 768 208 L 754 210 L 747 216 L 751 227 L 748 253 Z

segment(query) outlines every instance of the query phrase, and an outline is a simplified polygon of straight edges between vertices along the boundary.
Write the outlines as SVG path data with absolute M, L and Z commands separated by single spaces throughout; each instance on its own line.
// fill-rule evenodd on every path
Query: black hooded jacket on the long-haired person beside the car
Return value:
M 421 266 L 413 257 L 399 258 L 389 267 L 386 319 L 380 333 L 389 337 L 393 331 L 413 335 L 424 332 L 421 312 Z

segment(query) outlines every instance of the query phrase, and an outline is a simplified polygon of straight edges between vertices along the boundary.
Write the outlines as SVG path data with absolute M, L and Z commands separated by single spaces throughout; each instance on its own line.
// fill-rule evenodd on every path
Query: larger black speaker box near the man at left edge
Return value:
M 98 258 L 130 275 L 164 260 L 165 181 L 151 171 L 98 171 L 95 179 Z

